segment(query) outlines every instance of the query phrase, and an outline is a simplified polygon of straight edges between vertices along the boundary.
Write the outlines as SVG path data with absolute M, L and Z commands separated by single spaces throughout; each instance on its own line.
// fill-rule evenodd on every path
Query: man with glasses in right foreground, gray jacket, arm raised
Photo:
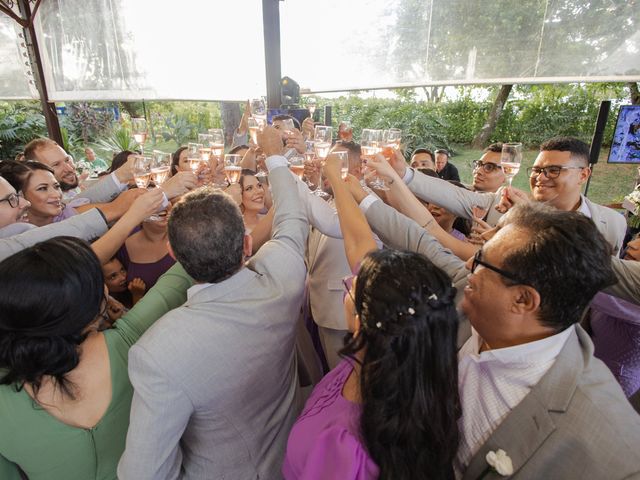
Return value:
M 473 327 L 470 338 L 461 331 L 458 353 L 456 478 L 482 478 L 498 450 L 511 460 L 511 478 L 637 478 L 640 417 L 579 325 L 615 281 L 593 222 L 517 205 L 465 264 L 392 207 L 354 196 L 386 245 L 418 251 L 451 276 L 460 324 Z

